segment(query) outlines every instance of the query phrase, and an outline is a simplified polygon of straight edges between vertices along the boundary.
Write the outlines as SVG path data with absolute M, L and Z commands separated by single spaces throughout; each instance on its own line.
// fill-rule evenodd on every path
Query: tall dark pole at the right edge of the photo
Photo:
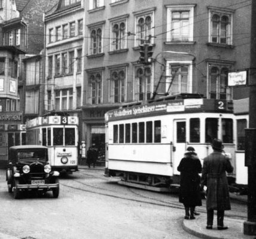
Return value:
M 256 1 L 251 10 L 251 59 L 250 69 L 256 68 Z M 245 130 L 245 166 L 248 167 L 248 218 L 243 223 L 243 234 L 256 235 L 256 75 L 249 73 L 249 128 Z

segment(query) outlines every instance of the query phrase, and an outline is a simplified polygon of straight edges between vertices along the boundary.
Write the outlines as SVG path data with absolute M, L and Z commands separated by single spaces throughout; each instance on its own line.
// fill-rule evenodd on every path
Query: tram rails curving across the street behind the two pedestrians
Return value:
M 81 174 L 83 174 L 85 176 L 93 177 L 95 179 L 105 180 L 106 182 L 108 182 L 107 179 L 99 177 L 99 176 L 95 176 L 95 175 L 88 174 L 88 173 L 81 173 Z M 135 201 L 137 203 L 146 203 L 146 204 L 151 204 L 151 205 L 156 205 L 156 206 L 162 206 L 162 207 L 184 210 L 184 207 L 180 203 L 167 202 L 165 200 L 159 200 L 157 198 L 149 197 L 149 196 L 146 196 L 146 195 L 136 191 L 136 189 L 133 189 L 133 188 L 130 188 L 130 187 L 126 187 L 127 191 L 130 194 L 135 195 L 135 197 L 139 197 L 139 198 L 133 198 L 133 197 L 130 197 L 129 195 L 117 195 L 117 191 L 111 190 L 109 188 L 103 188 L 103 187 L 100 187 L 100 186 L 95 186 L 95 185 L 92 185 L 90 183 L 84 183 L 84 182 L 81 182 L 81 180 L 78 180 L 78 179 L 72 179 L 72 181 L 80 184 L 81 186 L 68 185 L 67 183 L 61 183 L 61 185 L 66 186 L 67 188 L 72 188 L 72 189 L 79 190 L 79 191 L 84 191 L 84 192 L 90 192 L 92 194 L 103 195 L 103 196 L 106 196 L 106 197 L 119 198 L 119 199 L 127 200 L 127 201 Z M 200 209 L 199 207 L 197 207 L 197 212 L 206 213 L 206 210 L 203 210 L 203 209 Z M 243 214 L 245 213 L 245 211 L 242 211 L 242 210 L 239 210 L 238 213 L 239 212 L 243 213 Z M 231 213 L 231 212 L 228 212 L 225 216 L 233 218 L 233 219 L 246 219 L 246 216 L 237 215 L 237 214 L 234 214 L 234 213 Z

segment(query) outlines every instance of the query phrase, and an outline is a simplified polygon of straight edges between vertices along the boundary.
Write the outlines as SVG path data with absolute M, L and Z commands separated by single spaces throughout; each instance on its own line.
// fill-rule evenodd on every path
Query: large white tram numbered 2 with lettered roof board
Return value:
M 124 185 L 155 191 L 177 187 L 177 167 L 187 147 L 203 160 L 215 138 L 223 140 L 236 163 L 231 100 L 179 94 L 108 111 L 105 122 L 105 176 L 119 176 Z M 228 177 L 235 180 L 236 171 Z

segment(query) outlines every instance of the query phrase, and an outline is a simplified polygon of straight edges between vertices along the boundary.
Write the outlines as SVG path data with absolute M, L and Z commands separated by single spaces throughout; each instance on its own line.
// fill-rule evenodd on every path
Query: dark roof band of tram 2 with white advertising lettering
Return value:
M 233 114 L 232 100 L 204 99 L 199 94 L 179 94 L 137 104 L 130 104 L 120 109 L 106 112 L 106 121 L 119 119 L 150 117 L 166 114 L 188 114 L 194 112 L 215 112 Z

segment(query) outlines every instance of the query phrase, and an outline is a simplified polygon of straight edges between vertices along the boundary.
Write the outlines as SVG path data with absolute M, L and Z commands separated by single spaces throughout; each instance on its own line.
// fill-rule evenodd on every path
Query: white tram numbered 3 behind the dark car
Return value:
M 78 171 L 78 117 L 48 116 L 26 122 L 26 143 L 48 147 L 53 170 Z

